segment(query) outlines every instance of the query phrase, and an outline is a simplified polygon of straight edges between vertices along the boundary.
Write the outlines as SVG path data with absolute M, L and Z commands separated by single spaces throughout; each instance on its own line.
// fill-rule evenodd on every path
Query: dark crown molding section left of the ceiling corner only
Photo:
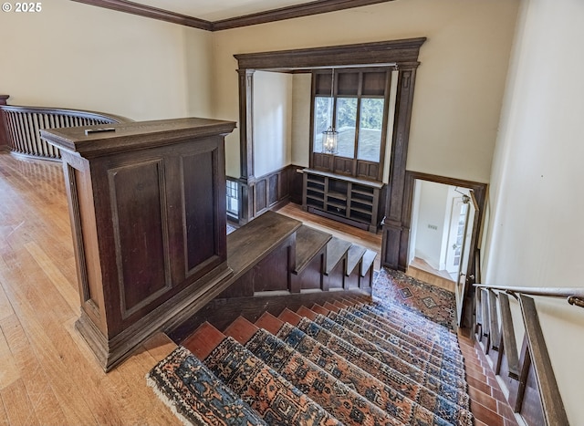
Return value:
M 138 3 L 129 2 L 127 0 L 72 0 L 86 5 L 96 5 L 106 9 L 116 10 L 131 15 L 151 17 L 160 21 L 171 22 L 181 26 L 192 26 L 193 28 L 204 29 L 207 31 L 213 30 L 213 23 L 199 19 L 193 16 L 186 16 L 171 12 L 169 10 L 159 9 L 149 5 L 140 5 Z

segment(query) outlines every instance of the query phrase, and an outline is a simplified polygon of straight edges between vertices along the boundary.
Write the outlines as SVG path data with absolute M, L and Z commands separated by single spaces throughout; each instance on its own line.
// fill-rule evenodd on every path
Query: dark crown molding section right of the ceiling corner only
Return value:
M 337 12 L 339 10 L 351 9 L 364 5 L 377 5 L 393 0 L 320 0 L 308 2 L 303 5 L 291 5 L 279 9 L 267 10 L 256 14 L 237 16 L 229 19 L 222 19 L 213 23 L 213 31 L 237 28 L 240 26 L 255 26 L 268 22 L 283 21 L 301 16 L 312 16 Z

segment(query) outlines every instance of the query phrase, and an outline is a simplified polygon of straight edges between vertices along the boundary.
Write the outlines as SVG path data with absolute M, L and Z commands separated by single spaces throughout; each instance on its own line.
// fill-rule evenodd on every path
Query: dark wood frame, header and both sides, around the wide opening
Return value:
M 370 64 L 395 63 L 399 68 L 397 109 L 394 120 L 394 136 L 391 148 L 391 193 L 388 194 L 388 203 L 396 203 L 393 209 L 397 208 L 398 216 L 401 219 L 401 201 L 404 191 L 404 176 L 407 160 L 407 148 L 410 133 L 410 119 L 412 116 L 413 87 L 415 83 L 416 68 L 418 68 L 418 54 L 420 47 L 426 41 L 426 37 L 407 38 L 401 40 L 380 41 L 373 43 L 362 43 L 355 45 L 342 45 L 333 47 L 315 47 L 294 50 L 281 50 L 273 52 L 261 52 L 235 55 L 239 73 L 239 114 L 240 126 L 240 170 L 241 180 L 253 184 L 253 163 L 254 158 L 253 129 L 248 128 L 253 124 L 250 113 L 253 111 L 253 71 L 282 70 L 290 71 L 298 68 L 315 68 L 331 66 L 355 66 Z M 243 193 L 242 211 L 248 213 L 244 220 L 251 220 L 250 210 L 251 199 L 248 194 Z M 400 224 L 401 226 L 401 224 Z M 385 240 L 387 241 L 387 240 Z M 407 242 L 405 242 L 407 245 Z M 384 265 L 391 264 L 385 260 L 385 254 L 394 255 L 398 252 L 395 247 L 385 247 L 381 249 L 381 256 Z M 397 255 L 395 264 L 397 265 Z

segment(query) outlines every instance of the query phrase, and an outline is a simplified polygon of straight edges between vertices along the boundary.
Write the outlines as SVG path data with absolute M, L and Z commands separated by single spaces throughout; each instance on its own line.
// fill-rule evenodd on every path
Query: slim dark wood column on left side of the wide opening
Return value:
M 254 167 L 254 69 L 238 69 L 239 74 L 239 169 L 241 199 L 239 222 L 244 224 L 255 216 Z

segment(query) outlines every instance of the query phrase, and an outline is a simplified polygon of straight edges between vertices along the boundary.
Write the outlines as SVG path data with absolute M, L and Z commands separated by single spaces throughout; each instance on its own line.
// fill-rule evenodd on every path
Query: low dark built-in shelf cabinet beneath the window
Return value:
M 377 232 L 383 183 L 313 169 L 303 174 L 304 210 Z

